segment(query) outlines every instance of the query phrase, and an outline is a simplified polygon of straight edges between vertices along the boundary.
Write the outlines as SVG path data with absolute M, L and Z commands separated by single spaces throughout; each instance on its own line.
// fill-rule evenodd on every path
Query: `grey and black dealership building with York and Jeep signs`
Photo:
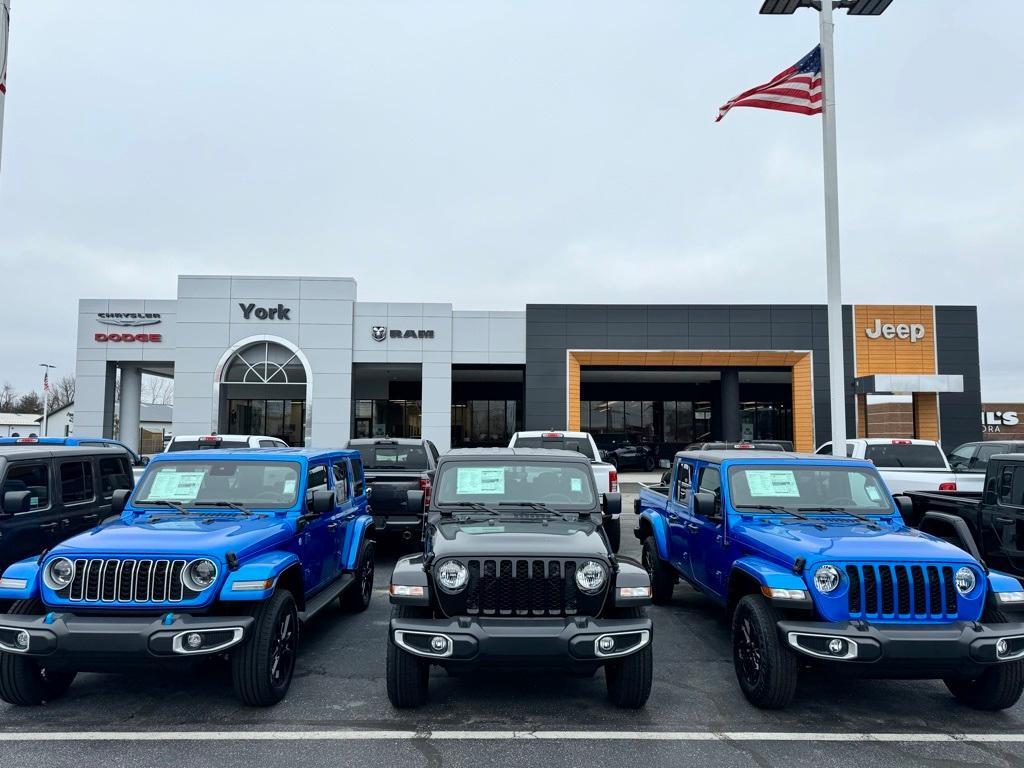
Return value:
M 848 306 L 844 325 L 850 434 L 871 435 L 872 399 L 897 395 L 913 435 L 980 439 L 975 307 Z M 136 443 L 143 373 L 173 377 L 175 434 L 298 445 L 444 450 L 567 428 L 665 455 L 698 439 L 810 451 L 829 435 L 823 305 L 490 311 L 362 302 L 348 278 L 213 275 L 180 276 L 173 300 L 81 300 L 75 433 Z

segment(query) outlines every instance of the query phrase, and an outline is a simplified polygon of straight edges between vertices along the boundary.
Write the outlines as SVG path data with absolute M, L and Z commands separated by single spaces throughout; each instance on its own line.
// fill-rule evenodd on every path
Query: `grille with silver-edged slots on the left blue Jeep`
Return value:
M 200 593 L 181 583 L 185 560 L 75 560 L 72 583 L 56 594 L 73 603 L 179 603 Z

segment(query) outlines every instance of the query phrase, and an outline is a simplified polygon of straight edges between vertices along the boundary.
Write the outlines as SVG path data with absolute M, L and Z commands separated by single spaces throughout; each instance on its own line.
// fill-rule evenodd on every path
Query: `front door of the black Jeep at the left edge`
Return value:
M 52 464 L 48 459 L 7 463 L 0 496 L 10 490 L 28 490 L 28 512 L 4 513 L 0 517 L 0 565 L 37 555 L 57 543 L 57 511 L 53 498 Z

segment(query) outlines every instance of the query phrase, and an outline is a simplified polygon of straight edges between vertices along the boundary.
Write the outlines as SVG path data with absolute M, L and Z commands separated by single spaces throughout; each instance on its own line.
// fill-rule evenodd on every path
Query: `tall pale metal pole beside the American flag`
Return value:
M 843 281 L 839 260 L 839 168 L 836 158 L 836 69 L 833 0 L 821 0 L 821 145 L 825 175 L 825 281 L 828 302 L 828 396 L 833 453 L 846 455 L 846 372 L 843 361 Z

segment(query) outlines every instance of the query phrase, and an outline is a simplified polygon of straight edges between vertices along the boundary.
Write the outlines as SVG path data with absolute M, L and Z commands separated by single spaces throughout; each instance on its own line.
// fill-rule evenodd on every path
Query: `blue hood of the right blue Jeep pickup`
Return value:
M 815 518 L 821 520 L 821 518 Z M 776 560 L 803 557 L 808 564 L 822 560 L 850 562 L 973 562 L 964 550 L 902 523 L 880 521 L 872 528 L 850 518 L 821 520 L 824 528 L 806 522 L 774 518 L 743 521 L 731 526 L 733 536 Z

